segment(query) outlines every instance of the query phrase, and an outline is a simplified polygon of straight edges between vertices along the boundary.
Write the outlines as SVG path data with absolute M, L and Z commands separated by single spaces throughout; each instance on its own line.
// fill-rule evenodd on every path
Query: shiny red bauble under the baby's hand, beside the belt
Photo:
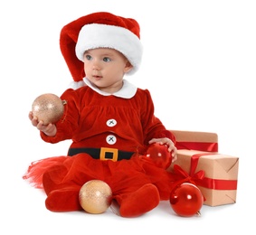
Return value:
M 156 166 L 168 168 L 172 163 L 172 154 L 168 151 L 168 146 L 154 143 L 148 146 L 146 157 Z

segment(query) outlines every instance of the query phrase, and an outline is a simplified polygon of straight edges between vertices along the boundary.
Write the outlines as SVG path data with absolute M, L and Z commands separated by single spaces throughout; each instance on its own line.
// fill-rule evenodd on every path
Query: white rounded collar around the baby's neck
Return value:
M 131 84 L 130 82 L 128 82 L 128 80 L 123 80 L 123 86 L 121 89 L 119 89 L 119 91 L 110 94 L 108 92 L 102 91 L 100 89 L 98 89 L 96 86 L 94 86 L 90 80 L 88 80 L 87 78 L 83 78 L 83 81 L 85 82 L 85 84 L 90 87 L 91 89 L 95 90 L 97 93 L 99 93 L 102 96 L 115 96 L 115 97 L 119 97 L 119 98 L 124 98 L 124 99 L 130 99 L 132 97 L 134 97 L 134 95 L 137 92 L 137 87 L 134 86 L 133 84 Z

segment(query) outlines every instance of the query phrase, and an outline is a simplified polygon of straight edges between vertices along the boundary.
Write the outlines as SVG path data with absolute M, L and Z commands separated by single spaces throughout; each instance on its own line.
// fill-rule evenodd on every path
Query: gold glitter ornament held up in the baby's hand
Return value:
M 43 125 L 56 123 L 64 113 L 65 100 L 60 99 L 52 93 L 43 94 L 33 100 L 32 113 Z

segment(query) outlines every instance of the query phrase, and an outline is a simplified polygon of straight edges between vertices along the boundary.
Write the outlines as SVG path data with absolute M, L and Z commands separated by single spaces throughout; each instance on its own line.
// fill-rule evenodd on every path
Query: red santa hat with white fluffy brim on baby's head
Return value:
M 74 80 L 72 87 L 83 85 L 83 53 L 90 49 L 115 49 L 132 64 L 128 74 L 137 71 L 142 57 L 139 30 L 136 20 L 107 12 L 88 14 L 65 25 L 61 31 L 60 46 Z

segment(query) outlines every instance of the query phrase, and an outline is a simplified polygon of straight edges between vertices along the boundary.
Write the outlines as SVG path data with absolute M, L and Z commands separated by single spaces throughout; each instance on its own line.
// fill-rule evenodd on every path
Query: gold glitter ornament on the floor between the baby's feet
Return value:
M 100 214 L 109 208 L 112 202 L 112 191 L 108 183 L 90 180 L 81 186 L 79 202 L 84 211 Z

